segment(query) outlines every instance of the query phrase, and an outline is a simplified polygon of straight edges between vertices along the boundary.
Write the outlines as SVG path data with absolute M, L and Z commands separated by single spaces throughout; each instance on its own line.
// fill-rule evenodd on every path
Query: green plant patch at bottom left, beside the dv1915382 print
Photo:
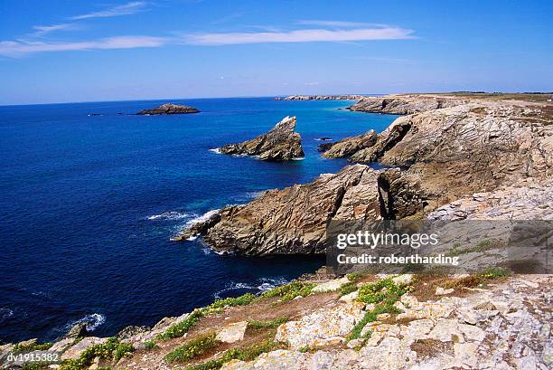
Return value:
M 76 360 L 64 361 L 61 363 L 61 370 L 80 370 L 90 364 L 95 357 L 100 359 L 108 359 L 111 361 L 119 361 L 124 356 L 128 356 L 133 352 L 133 346 L 129 343 L 120 342 L 116 337 L 110 337 L 106 343 L 95 346 L 90 346 L 85 349 L 79 358 Z

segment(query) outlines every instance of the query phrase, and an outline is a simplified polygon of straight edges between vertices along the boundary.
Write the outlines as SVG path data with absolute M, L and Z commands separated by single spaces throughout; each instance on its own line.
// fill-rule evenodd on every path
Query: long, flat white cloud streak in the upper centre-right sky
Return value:
M 412 30 L 396 27 L 359 28 L 351 30 L 297 30 L 264 33 L 200 33 L 186 35 L 185 43 L 196 45 L 230 45 L 239 43 L 312 43 L 368 40 L 410 39 Z

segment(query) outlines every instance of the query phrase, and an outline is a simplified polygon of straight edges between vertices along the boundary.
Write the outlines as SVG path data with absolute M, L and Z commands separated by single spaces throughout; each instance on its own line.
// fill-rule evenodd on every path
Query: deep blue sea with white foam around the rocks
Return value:
M 0 107 L 0 340 L 53 340 L 78 321 L 110 336 L 317 269 L 323 258 L 220 256 L 170 238 L 225 204 L 345 166 L 321 157 L 316 138 L 381 131 L 396 118 L 342 110 L 351 101 L 172 101 L 202 113 L 128 115 L 164 101 Z M 210 150 L 288 115 L 304 160 Z

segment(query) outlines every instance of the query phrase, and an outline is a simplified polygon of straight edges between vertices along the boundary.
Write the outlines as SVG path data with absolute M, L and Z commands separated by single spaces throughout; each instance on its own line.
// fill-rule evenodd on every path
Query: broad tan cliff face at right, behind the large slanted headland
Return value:
M 439 204 L 477 191 L 553 175 L 550 109 L 472 101 L 396 119 L 351 161 L 379 161 L 417 177 Z

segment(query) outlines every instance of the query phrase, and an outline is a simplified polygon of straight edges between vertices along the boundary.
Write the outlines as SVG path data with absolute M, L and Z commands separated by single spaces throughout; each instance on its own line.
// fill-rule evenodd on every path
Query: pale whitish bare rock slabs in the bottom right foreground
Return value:
M 547 369 L 553 365 L 550 284 L 550 277 L 528 276 L 467 289 L 464 298 L 405 295 L 395 304 L 402 311 L 395 320 L 385 322 L 384 315 L 370 322 L 361 331 L 367 337 L 347 345 L 338 333 L 357 317 L 348 305 L 322 308 L 278 327 L 277 339 L 288 349 L 222 369 Z

